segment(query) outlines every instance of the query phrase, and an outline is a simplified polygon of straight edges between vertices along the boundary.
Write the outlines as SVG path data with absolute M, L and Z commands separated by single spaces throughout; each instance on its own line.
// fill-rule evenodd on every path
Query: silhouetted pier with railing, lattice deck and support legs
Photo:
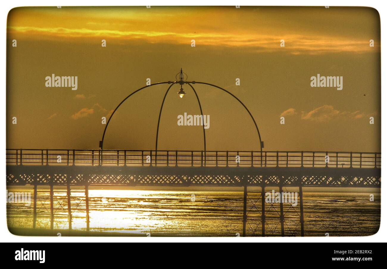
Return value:
M 54 186 L 67 186 L 70 230 L 70 186 L 85 187 L 87 230 L 89 186 L 229 186 L 244 189 L 243 236 L 249 221 L 259 221 L 262 236 L 267 235 L 265 228 L 270 218 L 279 220 L 282 236 L 285 221 L 297 219 L 296 228 L 300 226 L 303 236 L 303 187 L 380 187 L 381 184 L 380 153 L 7 149 L 6 162 L 8 186 L 34 186 L 33 227 L 38 186 L 50 186 L 51 229 Z M 260 187 L 260 191 L 248 191 L 248 187 Z M 286 216 L 289 211 L 284 209 L 286 203 L 279 203 L 279 212 L 273 203 L 270 206 L 265 203 L 267 187 L 278 187 L 280 193 L 286 187 L 298 187 L 299 209 L 291 204 L 289 207 L 295 209 L 296 218 Z M 273 209 L 278 216 L 268 215 Z M 257 227 L 250 228 L 255 234 Z

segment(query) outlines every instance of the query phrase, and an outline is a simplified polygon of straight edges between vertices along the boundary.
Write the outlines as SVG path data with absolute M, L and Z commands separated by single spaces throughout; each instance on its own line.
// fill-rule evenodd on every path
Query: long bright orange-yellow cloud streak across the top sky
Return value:
M 241 32 L 175 32 L 175 31 L 124 31 L 124 30 L 102 30 L 87 28 L 65 28 L 65 27 L 36 27 L 36 26 L 10 26 L 11 33 L 26 33 L 36 36 L 48 37 L 98 37 L 118 40 L 142 40 L 149 43 L 186 44 L 187 40 L 197 39 L 202 45 L 251 48 L 257 52 L 276 52 L 280 48 L 279 40 L 284 39 L 286 51 L 298 55 L 322 54 L 337 52 L 365 53 L 370 51 L 368 39 L 348 39 L 332 36 L 309 36 L 303 34 L 261 34 Z

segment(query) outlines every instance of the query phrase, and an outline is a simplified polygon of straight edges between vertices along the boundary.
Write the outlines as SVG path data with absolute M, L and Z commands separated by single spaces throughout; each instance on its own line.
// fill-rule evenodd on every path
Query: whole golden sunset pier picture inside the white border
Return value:
M 9 230 L 375 234 L 380 56 L 368 7 L 12 9 Z

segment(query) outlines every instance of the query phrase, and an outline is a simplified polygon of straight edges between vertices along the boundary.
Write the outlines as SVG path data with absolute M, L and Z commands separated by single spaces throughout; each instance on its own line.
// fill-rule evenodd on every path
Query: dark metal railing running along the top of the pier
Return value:
M 380 168 L 378 152 L 7 149 L 7 165 Z

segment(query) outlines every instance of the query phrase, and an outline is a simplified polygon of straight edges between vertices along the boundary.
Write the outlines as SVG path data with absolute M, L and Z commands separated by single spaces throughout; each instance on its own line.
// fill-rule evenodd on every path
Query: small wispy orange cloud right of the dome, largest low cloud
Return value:
M 328 122 L 337 118 L 361 119 L 364 116 L 365 116 L 364 112 L 339 111 L 337 109 L 334 109 L 333 106 L 329 106 L 329 105 L 317 107 L 307 113 L 305 113 L 304 111 L 301 112 L 301 119 L 306 119 L 306 120 L 316 121 L 316 122 Z

